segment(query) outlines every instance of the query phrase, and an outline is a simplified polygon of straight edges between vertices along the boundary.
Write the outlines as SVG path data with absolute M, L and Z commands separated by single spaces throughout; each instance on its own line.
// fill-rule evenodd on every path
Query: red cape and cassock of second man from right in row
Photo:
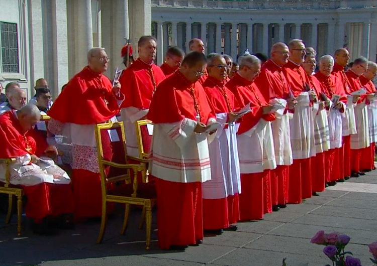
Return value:
M 348 70 L 345 74 L 348 78 L 351 92 L 357 91 L 362 88 L 359 76 L 357 76 L 353 71 Z M 365 97 L 366 97 L 365 94 L 361 95 L 361 97 L 357 101 L 357 104 L 361 103 L 365 99 Z M 365 153 L 366 150 L 368 150 L 368 148 L 357 149 L 357 150 L 351 149 L 351 172 L 358 173 L 364 170 L 361 168 L 361 154 Z

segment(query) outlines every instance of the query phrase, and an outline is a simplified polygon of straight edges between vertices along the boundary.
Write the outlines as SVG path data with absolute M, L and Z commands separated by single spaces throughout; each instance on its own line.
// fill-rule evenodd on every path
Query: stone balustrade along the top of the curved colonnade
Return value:
M 377 7 L 377 0 L 152 0 L 152 7 L 208 9 L 347 9 Z

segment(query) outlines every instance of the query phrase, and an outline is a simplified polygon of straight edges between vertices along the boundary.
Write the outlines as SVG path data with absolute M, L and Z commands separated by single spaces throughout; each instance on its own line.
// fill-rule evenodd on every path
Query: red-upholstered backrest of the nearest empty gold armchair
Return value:
M 108 122 L 95 127 L 98 162 L 101 182 L 106 188 L 107 183 L 115 181 L 130 182 L 127 170 L 109 166 L 110 163 L 126 164 L 127 151 L 123 122 Z

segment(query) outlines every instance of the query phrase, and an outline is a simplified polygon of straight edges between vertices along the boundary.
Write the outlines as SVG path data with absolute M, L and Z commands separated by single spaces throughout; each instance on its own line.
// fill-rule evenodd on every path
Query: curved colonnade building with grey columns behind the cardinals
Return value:
M 370 0 L 152 0 L 157 63 L 170 45 L 187 51 L 201 38 L 206 53 L 233 58 L 246 49 L 269 54 L 275 42 L 302 39 L 318 55 L 347 47 L 351 59 L 376 60 L 377 1 Z

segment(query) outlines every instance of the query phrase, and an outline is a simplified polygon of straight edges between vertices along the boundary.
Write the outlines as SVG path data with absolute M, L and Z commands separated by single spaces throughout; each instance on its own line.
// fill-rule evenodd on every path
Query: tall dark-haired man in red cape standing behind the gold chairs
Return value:
M 122 92 L 127 95 L 121 105 L 121 118 L 124 123 L 127 154 L 133 157 L 141 157 L 139 150 L 136 126 L 137 120 L 145 119 L 153 94 L 157 86 L 165 79 L 161 68 L 153 63 L 156 57 L 157 41 L 152 36 L 143 36 L 138 42 L 139 58 L 123 71 L 119 82 Z M 143 148 L 149 153 L 152 136 L 147 127 L 141 127 Z M 138 162 L 130 160 L 129 163 Z M 138 176 L 141 182 L 141 175 Z

